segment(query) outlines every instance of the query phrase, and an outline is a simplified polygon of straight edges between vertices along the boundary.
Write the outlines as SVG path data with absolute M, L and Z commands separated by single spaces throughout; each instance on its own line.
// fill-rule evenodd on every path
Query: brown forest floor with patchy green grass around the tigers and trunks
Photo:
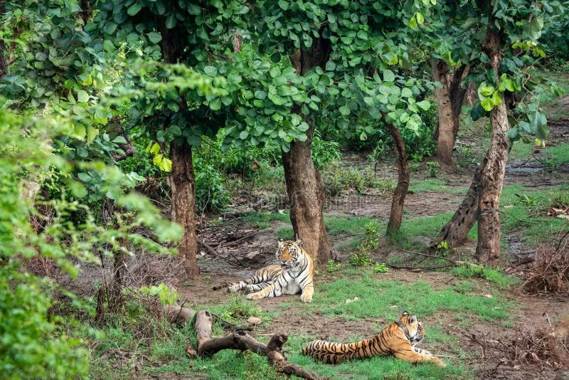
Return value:
M 560 366 L 559 359 L 532 357 L 533 347 L 526 347 L 525 357 L 523 351 L 523 343 L 533 339 L 537 330 L 563 324 L 569 317 L 569 297 L 523 292 L 520 285 L 528 266 L 518 265 L 524 258 L 555 244 L 562 231 L 569 231 L 568 218 L 547 215 L 553 206 L 569 206 L 569 97 L 555 100 L 550 106 L 551 134 L 546 146 L 516 142 L 511 150 L 501 197 L 503 253 L 498 269 L 385 272 L 381 265 L 447 262 L 445 258 L 425 258 L 415 252 L 425 250 L 452 216 L 487 147 L 488 133 L 471 126 L 459 136 L 456 167 L 433 172 L 425 164 L 415 165 L 401 233 L 394 241 L 381 237 L 389 215 L 390 191 L 345 191 L 329 200 L 326 228 L 338 260 L 317 271 L 314 302 L 304 304 L 298 295 L 251 302 L 242 295 L 229 295 L 225 288 L 212 290 L 216 285 L 243 280 L 258 268 L 275 262 L 277 238 L 292 238 L 289 216 L 278 204 L 265 204 L 238 218 L 204 218 L 198 238 L 211 246 L 216 255 L 208 250 L 201 253 L 201 278 L 176 285 L 180 300 L 193 310 L 206 308 L 236 324 L 245 323 L 250 316 L 259 317 L 262 323 L 251 334 L 262 342 L 267 342 L 274 332 L 289 332 L 289 342 L 285 344 L 289 360 L 331 379 L 567 378 L 569 371 Z M 344 161 L 353 168 L 370 166 L 361 154 L 346 152 Z M 376 175 L 389 180 L 395 179 L 397 173 L 392 164 L 385 164 L 376 168 Z M 255 199 L 249 201 L 254 203 Z M 246 207 L 245 204 L 242 209 Z M 375 226 L 380 238 L 379 247 L 371 251 L 371 260 L 376 264 L 350 265 L 349 256 L 361 249 L 369 226 Z M 476 235 L 475 226 L 465 246 L 440 254 L 474 260 Z M 403 311 L 422 320 L 426 337 L 421 348 L 442 355 L 447 363 L 445 369 L 435 364 L 411 365 L 390 357 L 330 366 L 298 353 L 312 339 L 354 342 L 371 337 Z M 218 324 L 213 334 L 223 334 Z M 139 379 L 281 379 L 266 359 L 255 354 L 225 351 L 213 359 L 188 359 L 184 355 L 184 339 L 194 339 L 191 327 L 182 327 L 179 337 L 147 344 L 150 349 L 142 350 L 144 354 L 137 359 L 127 355 L 118 364 L 102 365 L 97 361 L 100 368 L 95 376 L 99 373 Z M 540 338 L 535 339 L 532 342 L 538 344 Z M 124 351 L 140 349 L 126 341 L 117 341 L 115 346 Z M 110 344 L 105 349 L 115 346 Z M 105 349 L 101 347 L 99 352 Z

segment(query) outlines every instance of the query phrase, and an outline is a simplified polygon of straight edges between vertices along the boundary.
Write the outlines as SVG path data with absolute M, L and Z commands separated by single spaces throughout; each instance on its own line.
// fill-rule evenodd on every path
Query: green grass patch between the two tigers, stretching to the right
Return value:
M 346 304 L 347 299 L 356 296 L 360 298 L 358 302 Z M 328 317 L 340 316 L 346 320 L 366 317 L 393 320 L 404 310 L 425 317 L 446 310 L 462 317 L 475 315 L 481 321 L 492 321 L 506 320 L 510 306 L 511 302 L 497 293 L 487 298 L 466 295 L 452 287 L 432 290 L 421 281 L 413 284 L 381 281 L 364 273 L 358 281 L 343 278 L 320 285 L 314 293 L 314 302 L 307 307 L 320 310 Z

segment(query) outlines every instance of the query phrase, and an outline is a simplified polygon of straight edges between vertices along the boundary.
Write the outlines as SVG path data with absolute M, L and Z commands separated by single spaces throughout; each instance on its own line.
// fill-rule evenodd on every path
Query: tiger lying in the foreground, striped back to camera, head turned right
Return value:
M 447 366 L 444 361 L 430 352 L 415 347 L 425 337 L 422 322 L 417 316 L 403 312 L 395 322 L 381 330 L 371 339 L 355 343 L 332 343 L 313 340 L 302 349 L 302 354 L 326 364 L 338 364 L 351 359 L 363 359 L 378 355 L 395 355 L 410 363 L 434 361 L 440 366 Z M 413 345 L 412 345 L 413 344 Z

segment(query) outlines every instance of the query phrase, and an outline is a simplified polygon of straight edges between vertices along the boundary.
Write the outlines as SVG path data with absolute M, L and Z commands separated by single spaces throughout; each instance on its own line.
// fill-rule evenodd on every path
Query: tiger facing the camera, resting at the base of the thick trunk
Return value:
M 248 300 L 298 294 L 302 302 L 312 302 L 314 295 L 314 263 L 301 248 L 302 241 L 279 241 L 277 258 L 280 265 L 269 265 L 257 270 L 251 278 L 229 286 L 230 292 L 246 290 Z

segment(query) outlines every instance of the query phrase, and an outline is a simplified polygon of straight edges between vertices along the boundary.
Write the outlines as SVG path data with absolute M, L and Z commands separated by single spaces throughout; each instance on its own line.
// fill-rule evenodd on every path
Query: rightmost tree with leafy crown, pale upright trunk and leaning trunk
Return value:
M 565 6 L 558 1 L 541 7 L 524 1 L 517 1 L 514 7 L 505 1 L 492 5 L 480 1 L 460 5 L 460 17 L 468 16 L 469 27 L 478 30 L 475 34 L 478 42 L 471 45 L 472 56 L 485 68 L 471 77 L 479 83 L 479 104 L 472 108 L 472 118 L 490 117 L 491 145 L 462 205 L 431 246 L 444 239 L 448 246 L 462 243 L 478 219 L 477 257 L 494 263 L 500 255 L 499 198 L 510 139 L 519 139 L 522 134 L 544 138 L 547 132 L 547 120 L 538 103 L 548 90 L 533 70 L 536 60 L 545 53 L 536 41 L 544 23 L 563 14 Z M 484 16 L 474 16 L 479 14 Z M 506 97 L 513 93 L 519 93 L 521 101 L 514 105 L 516 115 L 511 117 L 514 122 L 511 127 Z

